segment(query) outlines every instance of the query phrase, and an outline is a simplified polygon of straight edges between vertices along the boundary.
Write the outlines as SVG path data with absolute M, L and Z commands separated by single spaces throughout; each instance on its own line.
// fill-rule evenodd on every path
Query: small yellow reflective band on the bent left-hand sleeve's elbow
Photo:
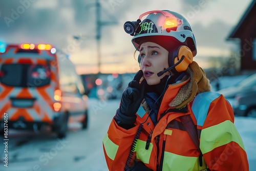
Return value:
M 114 160 L 116 157 L 118 145 L 116 145 L 113 141 L 111 141 L 111 139 L 109 139 L 108 134 L 106 134 L 103 138 L 103 145 L 106 151 L 106 155 L 108 155 L 111 160 Z

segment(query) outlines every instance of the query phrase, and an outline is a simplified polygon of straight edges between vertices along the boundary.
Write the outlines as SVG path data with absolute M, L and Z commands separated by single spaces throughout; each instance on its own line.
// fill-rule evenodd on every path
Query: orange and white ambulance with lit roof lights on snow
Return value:
M 7 45 L 0 53 L 0 131 L 50 127 L 57 137 L 69 122 L 88 126 L 88 96 L 66 54 L 49 44 Z

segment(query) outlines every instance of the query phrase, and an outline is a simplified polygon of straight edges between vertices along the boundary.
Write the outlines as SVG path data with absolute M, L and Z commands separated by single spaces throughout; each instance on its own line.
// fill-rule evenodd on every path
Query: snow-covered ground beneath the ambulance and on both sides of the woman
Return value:
M 4 166 L 4 140 L 1 137 L 0 170 L 108 170 L 105 164 L 102 139 L 108 130 L 119 100 L 90 100 L 89 128 L 81 130 L 78 123 L 69 124 L 65 139 L 49 131 L 33 133 L 9 130 L 8 167 Z M 236 126 L 244 141 L 250 170 L 256 170 L 256 119 L 236 117 Z

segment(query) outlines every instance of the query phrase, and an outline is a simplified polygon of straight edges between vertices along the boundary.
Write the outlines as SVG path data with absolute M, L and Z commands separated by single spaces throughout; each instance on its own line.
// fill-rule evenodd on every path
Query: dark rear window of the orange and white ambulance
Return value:
M 12 87 L 42 87 L 51 81 L 47 66 L 8 64 L 3 65 L 0 72 L 0 82 Z

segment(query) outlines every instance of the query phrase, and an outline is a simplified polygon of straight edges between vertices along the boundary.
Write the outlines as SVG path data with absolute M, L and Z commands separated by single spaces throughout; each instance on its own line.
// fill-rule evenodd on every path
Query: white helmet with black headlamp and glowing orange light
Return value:
M 147 17 L 141 22 L 143 16 Z M 139 16 L 136 22 L 125 22 L 124 30 L 134 36 L 132 43 L 136 49 L 140 40 L 145 36 L 171 36 L 185 44 L 192 52 L 197 54 L 195 36 L 187 20 L 180 14 L 168 10 L 148 11 Z

